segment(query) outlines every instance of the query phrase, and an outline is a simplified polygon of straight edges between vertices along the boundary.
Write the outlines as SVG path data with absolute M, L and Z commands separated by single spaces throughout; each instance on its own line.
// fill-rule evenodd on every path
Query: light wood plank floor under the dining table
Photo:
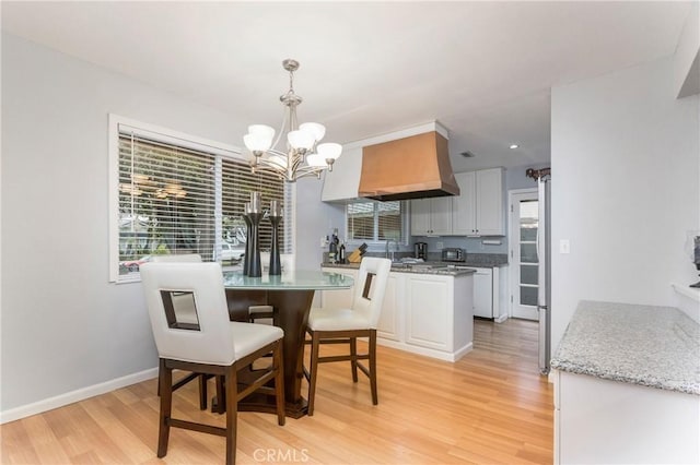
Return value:
M 313 417 L 279 427 L 272 415 L 241 413 L 237 462 L 552 462 L 553 388 L 538 374 L 535 322 L 476 321 L 475 348 L 456 363 L 381 346 L 377 363 L 377 406 L 366 378 L 353 384 L 340 362 L 320 367 Z M 2 425 L 2 463 L 223 463 L 223 438 L 179 429 L 156 458 L 155 386 L 144 381 Z M 224 426 L 223 416 L 198 409 L 196 383 L 177 391 L 174 414 Z

